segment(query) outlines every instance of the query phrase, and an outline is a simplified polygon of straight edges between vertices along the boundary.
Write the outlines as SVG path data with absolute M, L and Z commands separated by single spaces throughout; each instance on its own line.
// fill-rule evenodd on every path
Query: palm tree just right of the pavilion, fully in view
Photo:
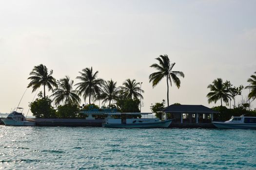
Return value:
M 220 103 L 222 106 L 222 100 L 225 103 L 229 102 L 229 99 L 231 96 L 229 94 L 229 90 L 223 84 L 223 81 L 221 78 L 217 78 L 217 80 L 214 80 L 213 85 L 208 85 L 207 88 L 210 88 L 211 90 L 211 92 L 207 94 L 208 103 L 210 102 L 216 103 L 220 99 Z

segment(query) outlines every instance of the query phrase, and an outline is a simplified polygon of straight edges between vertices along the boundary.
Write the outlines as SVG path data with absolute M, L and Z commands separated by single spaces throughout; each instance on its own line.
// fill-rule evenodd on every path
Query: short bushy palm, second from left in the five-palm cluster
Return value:
M 68 76 L 59 80 L 59 87 L 54 89 L 53 100 L 56 105 L 59 105 L 60 102 L 65 101 L 65 104 L 79 104 L 81 101 L 79 98 L 79 91 L 73 90 L 73 80 L 70 80 Z

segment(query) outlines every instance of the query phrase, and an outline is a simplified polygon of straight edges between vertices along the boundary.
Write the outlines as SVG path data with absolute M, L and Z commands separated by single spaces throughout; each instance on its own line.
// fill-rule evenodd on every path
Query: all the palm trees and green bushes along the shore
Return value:
M 175 63 L 171 63 L 167 55 L 160 55 L 156 58 L 158 63 L 152 64 L 151 68 L 156 68 L 157 72 L 149 75 L 149 82 L 152 82 L 153 87 L 166 77 L 167 83 L 167 104 L 169 105 L 169 84 L 175 84 L 180 87 L 179 77 L 184 77 L 183 72 L 173 71 Z M 52 76 L 53 70 L 42 64 L 35 66 L 29 73 L 30 83 L 28 87 L 32 87 L 33 91 L 36 91 L 43 86 L 43 93 L 40 91 L 38 99 L 30 103 L 31 112 L 36 118 L 78 118 L 84 119 L 86 115 L 80 114 L 80 110 L 85 111 L 120 111 L 120 112 L 140 112 L 139 99 L 143 99 L 141 93 L 144 90 L 140 88 L 141 83 L 137 83 L 135 79 L 126 79 L 122 86 L 118 86 L 117 82 L 112 79 L 104 81 L 98 78 L 98 71 L 93 71 L 93 68 L 84 68 L 79 72 L 77 79 L 80 81 L 76 84 L 76 89 L 73 90 L 74 81 L 70 80 L 68 76 L 60 79 L 58 84 L 56 79 Z M 256 110 L 250 109 L 250 100 L 256 99 L 256 72 L 251 75 L 251 78 L 247 81 L 250 83 L 245 89 L 250 89 L 248 95 L 249 100 L 241 101 L 236 106 L 236 96 L 241 95 L 243 85 L 234 86 L 230 81 L 223 83 L 221 78 L 217 78 L 208 85 L 207 88 L 210 92 L 207 94 L 208 102 L 220 101 L 220 106 L 213 107 L 214 110 L 221 112 L 216 118 L 219 120 L 229 119 L 231 115 L 239 116 L 240 114 L 247 114 L 255 116 Z M 45 90 L 48 88 L 53 94 L 48 97 L 45 94 Z M 81 100 L 79 96 L 82 95 L 86 102 L 86 97 L 89 97 L 89 104 L 82 104 L 79 106 Z M 52 99 L 51 99 L 52 98 Z M 107 106 L 103 105 L 101 108 L 98 105 L 91 103 L 101 101 L 102 103 L 108 103 Z M 227 109 L 222 105 L 222 102 L 231 106 L 231 101 L 234 101 L 234 109 Z M 55 103 L 57 109 L 51 105 Z M 111 103 L 112 102 L 112 103 Z M 229 103 L 230 102 L 230 103 Z M 61 105 L 62 104 L 62 105 Z M 160 111 L 164 108 L 165 101 L 152 104 L 150 109 L 156 113 L 156 116 L 160 118 Z M 177 103 L 179 104 L 179 103 Z M 167 115 L 168 116 L 168 115 Z

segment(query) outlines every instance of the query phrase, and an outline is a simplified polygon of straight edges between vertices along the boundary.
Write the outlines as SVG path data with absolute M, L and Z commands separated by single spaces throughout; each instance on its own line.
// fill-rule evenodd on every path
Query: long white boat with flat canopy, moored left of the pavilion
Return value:
M 138 115 L 149 115 L 152 113 L 112 113 L 102 127 L 111 128 L 167 128 L 172 123 L 172 119 L 159 120 L 159 118 L 138 118 Z

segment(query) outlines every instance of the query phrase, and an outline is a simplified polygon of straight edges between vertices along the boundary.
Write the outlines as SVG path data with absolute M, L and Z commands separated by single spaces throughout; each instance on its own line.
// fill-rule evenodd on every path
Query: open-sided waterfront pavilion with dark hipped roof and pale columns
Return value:
M 165 119 L 174 119 L 174 123 L 211 123 L 214 114 L 219 112 L 203 105 L 183 105 L 172 104 L 164 108 L 161 112 L 165 115 Z

